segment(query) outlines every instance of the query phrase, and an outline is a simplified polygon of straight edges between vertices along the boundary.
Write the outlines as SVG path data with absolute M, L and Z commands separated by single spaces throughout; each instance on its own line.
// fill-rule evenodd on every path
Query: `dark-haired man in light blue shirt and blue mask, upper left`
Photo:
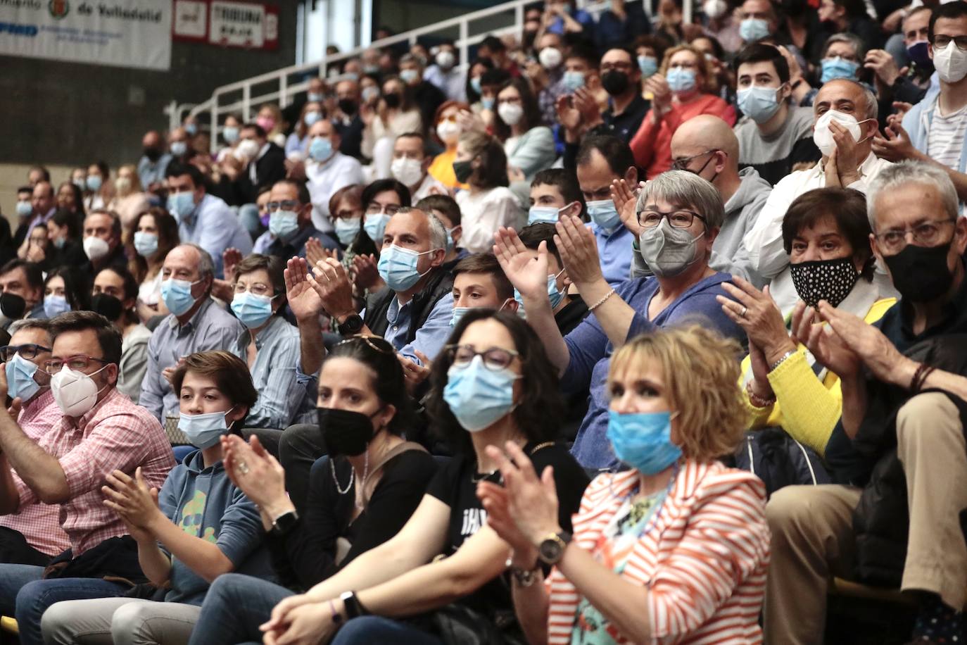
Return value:
M 215 260 L 215 276 L 221 278 L 221 254 L 234 248 L 251 252 L 251 236 L 228 204 L 205 191 L 201 171 L 190 163 L 173 161 L 165 171 L 168 210 L 178 220 L 182 243 L 207 250 Z M 252 200 L 254 201 L 254 200 Z

